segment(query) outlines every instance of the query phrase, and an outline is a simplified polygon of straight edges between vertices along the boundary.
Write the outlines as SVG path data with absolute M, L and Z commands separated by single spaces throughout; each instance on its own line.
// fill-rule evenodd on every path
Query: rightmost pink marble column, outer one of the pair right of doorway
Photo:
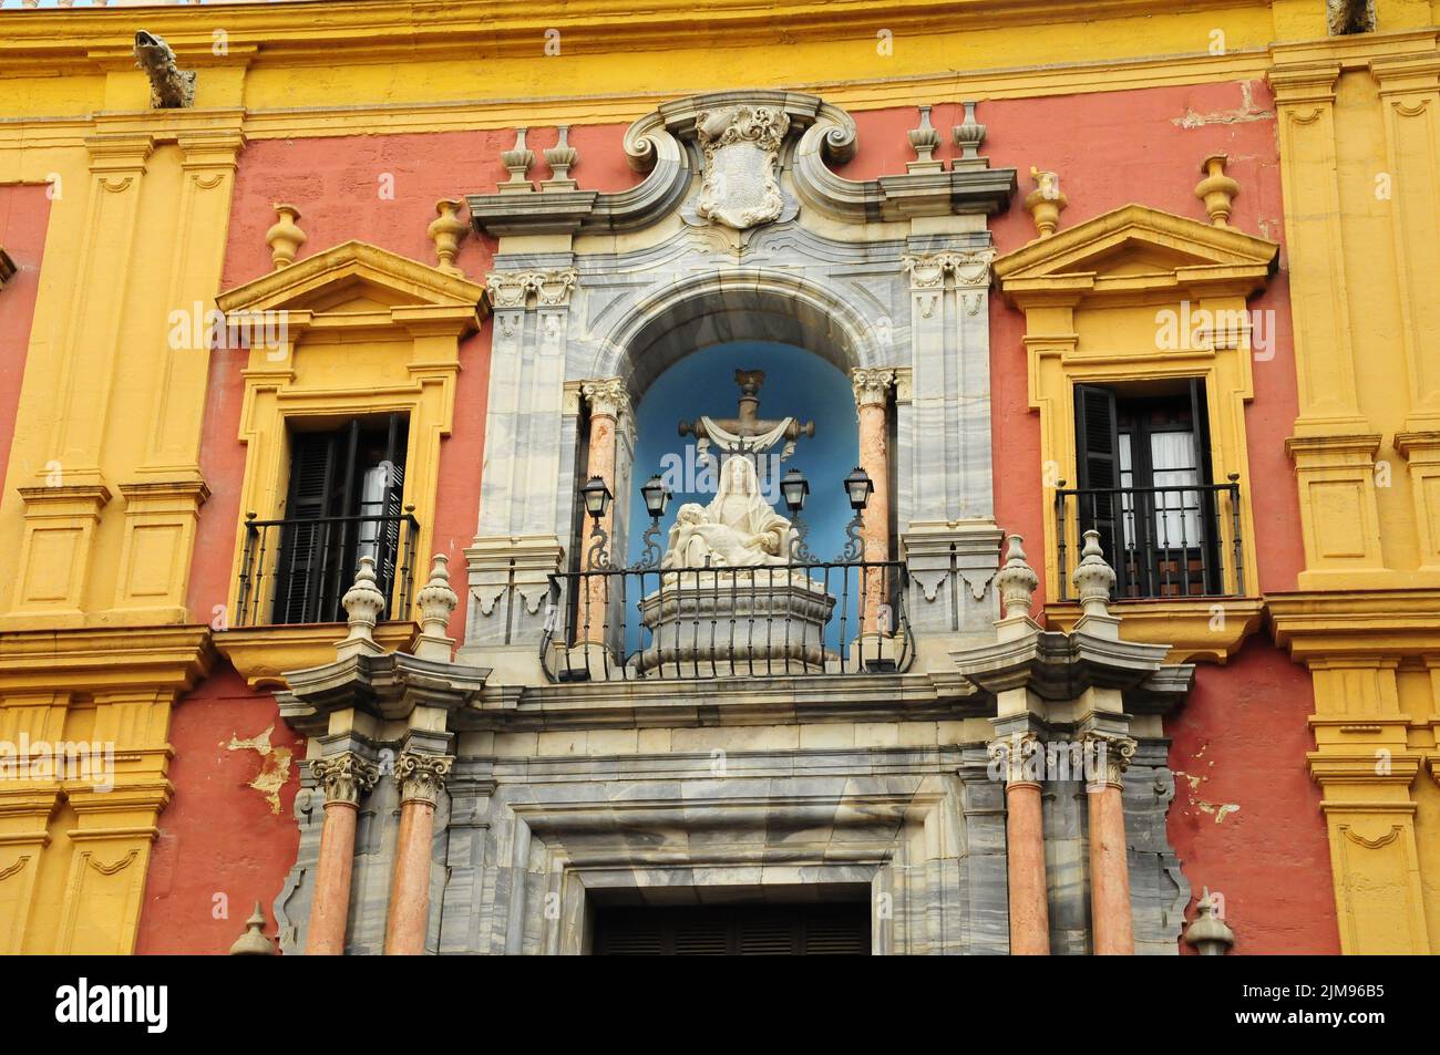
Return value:
M 1125 841 L 1125 769 L 1135 754 L 1129 737 L 1090 733 L 1087 757 L 1099 773 L 1086 784 L 1090 813 L 1090 925 L 1096 956 L 1133 956 L 1130 864 Z M 1092 754 L 1093 753 L 1093 754 Z

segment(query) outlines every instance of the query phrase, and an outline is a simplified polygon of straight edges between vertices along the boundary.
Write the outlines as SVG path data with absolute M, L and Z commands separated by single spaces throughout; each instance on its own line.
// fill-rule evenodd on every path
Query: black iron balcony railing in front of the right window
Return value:
M 1060 600 L 1070 599 L 1067 554 L 1100 533 L 1116 600 L 1227 597 L 1246 592 L 1240 484 L 1056 491 Z M 1079 548 L 1074 548 L 1079 554 Z

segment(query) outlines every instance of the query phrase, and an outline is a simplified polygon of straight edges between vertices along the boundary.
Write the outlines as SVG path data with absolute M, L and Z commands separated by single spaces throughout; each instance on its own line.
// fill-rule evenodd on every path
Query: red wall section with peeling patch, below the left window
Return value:
M 266 728 L 264 754 L 230 747 Z M 304 738 L 281 721 L 272 695 L 251 692 L 223 666 L 176 707 L 170 743 L 176 792 L 160 815 L 135 951 L 226 953 L 256 901 L 274 934 L 272 902 L 300 846 L 294 806 Z M 285 777 L 278 805 L 251 787 L 262 773 Z

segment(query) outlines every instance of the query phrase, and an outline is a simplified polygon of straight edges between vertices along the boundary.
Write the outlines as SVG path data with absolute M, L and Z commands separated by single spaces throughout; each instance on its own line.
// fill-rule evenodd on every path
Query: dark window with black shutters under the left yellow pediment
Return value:
M 344 619 L 340 599 L 363 556 L 392 597 L 403 527 L 405 415 L 291 432 L 289 486 L 275 558 L 275 623 Z M 393 597 L 392 597 L 393 600 Z

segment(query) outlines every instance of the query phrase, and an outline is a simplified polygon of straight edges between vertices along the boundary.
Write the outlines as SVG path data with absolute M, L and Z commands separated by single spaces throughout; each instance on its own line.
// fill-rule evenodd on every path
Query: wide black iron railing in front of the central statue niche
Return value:
M 900 561 L 550 576 L 540 659 L 552 681 L 906 671 Z

